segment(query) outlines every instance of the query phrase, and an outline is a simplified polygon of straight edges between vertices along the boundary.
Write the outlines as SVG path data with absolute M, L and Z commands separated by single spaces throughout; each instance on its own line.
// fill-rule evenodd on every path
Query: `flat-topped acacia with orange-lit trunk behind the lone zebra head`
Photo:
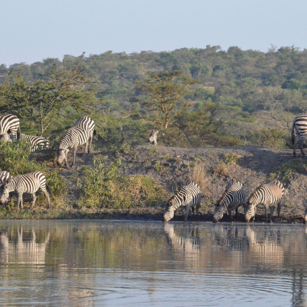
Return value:
M 175 116 L 184 111 L 189 101 L 185 99 L 188 87 L 198 81 L 183 76 L 182 71 L 149 73 L 146 81 L 137 81 L 135 91 L 146 93 L 141 99 L 135 99 L 140 108 L 130 110 L 131 116 L 138 116 L 153 123 L 169 127 Z

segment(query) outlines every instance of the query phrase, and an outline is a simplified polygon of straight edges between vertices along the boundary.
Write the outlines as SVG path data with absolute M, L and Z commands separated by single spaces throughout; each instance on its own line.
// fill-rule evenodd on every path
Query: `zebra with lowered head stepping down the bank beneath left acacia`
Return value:
M 70 128 L 64 138 L 60 139 L 56 149 L 57 164 L 62 165 L 65 161 L 67 167 L 68 148 L 73 148 L 72 165 L 75 164 L 77 147 L 85 144 L 84 153 L 90 152 L 93 136 L 96 135 L 95 123 L 88 116 L 82 117 Z

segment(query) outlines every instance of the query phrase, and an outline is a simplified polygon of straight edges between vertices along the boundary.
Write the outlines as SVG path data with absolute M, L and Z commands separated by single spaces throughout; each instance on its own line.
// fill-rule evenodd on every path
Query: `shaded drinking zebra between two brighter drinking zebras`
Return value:
M 223 217 L 225 210 L 228 211 L 228 216 L 231 220 L 234 213 L 238 214 L 238 208 L 242 205 L 245 208 L 246 195 L 242 183 L 239 181 L 230 182 L 227 184 L 223 195 L 220 199 L 214 204 L 214 215 L 213 223 L 216 223 Z

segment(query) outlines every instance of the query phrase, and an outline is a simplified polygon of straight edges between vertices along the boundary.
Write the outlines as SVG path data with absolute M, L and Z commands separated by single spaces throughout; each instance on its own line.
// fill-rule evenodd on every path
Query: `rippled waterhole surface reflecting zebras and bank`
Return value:
M 0 221 L 0 306 L 306 306 L 303 225 Z

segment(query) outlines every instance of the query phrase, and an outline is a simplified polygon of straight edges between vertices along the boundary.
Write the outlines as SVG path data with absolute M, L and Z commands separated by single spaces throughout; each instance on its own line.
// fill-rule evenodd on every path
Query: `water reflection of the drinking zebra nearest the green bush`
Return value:
M 185 227 L 180 235 L 174 231 L 172 224 L 165 224 L 164 230 L 168 241 L 176 251 L 198 253 L 200 251 L 200 236 L 197 227 Z

